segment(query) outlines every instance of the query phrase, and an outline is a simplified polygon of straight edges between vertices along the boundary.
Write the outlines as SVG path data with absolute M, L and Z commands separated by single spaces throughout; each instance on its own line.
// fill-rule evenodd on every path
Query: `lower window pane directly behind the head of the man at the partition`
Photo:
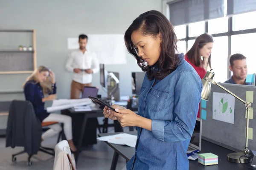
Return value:
M 256 33 L 231 36 L 231 54 L 240 53 L 246 57 L 247 74 L 256 73 L 255 39 Z

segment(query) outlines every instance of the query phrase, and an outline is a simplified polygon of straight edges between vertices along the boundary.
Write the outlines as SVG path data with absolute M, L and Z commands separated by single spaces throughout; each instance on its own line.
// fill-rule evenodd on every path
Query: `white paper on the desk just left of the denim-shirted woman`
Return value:
M 107 141 L 108 143 L 127 145 L 129 147 L 135 147 L 137 141 L 137 135 L 130 135 L 127 133 L 119 133 L 111 136 L 102 136 L 97 138 L 99 141 Z

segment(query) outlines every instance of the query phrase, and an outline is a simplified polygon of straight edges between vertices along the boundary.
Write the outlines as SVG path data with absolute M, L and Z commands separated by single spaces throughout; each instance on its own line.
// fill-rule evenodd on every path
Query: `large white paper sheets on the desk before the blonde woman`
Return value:
M 89 98 L 85 99 L 56 99 L 53 100 L 52 106 L 47 107 L 47 112 L 51 113 L 54 111 L 61 111 L 64 109 L 76 107 L 76 106 L 84 106 L 92 104 L 92 100 Z

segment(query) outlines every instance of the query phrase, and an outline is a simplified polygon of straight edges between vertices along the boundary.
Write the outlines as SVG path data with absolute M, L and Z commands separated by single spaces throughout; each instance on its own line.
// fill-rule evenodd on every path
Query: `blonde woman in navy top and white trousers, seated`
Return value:
M 72 152 L 76 152 L 72 136 L 72 120 L 70 116 L 56 113 L 47 113 L 44 102 L 56 99 L 55 75 L 44 66 L 40 66 L 26 79 L 23 84 L 27 101 L 34 107 L 35 114 L 41 122 L 60 122 L 64 124 L 64 133 Z M 47 95 L 48 94 L 48 95 Z M 47 95 L 47 96 L 44 96 Z M 61 131 L 59 124 L 50 125 L 50 129 L 42 135 L 42 140 L 56 135 Z

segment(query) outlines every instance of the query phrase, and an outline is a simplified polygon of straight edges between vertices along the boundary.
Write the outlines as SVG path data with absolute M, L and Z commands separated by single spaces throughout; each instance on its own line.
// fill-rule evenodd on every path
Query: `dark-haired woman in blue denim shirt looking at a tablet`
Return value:
M 200 77 L 183 54 L 176 54 L 175 31 L 159 11 L 140 14 L 125 32 L 125 45 L 146 74 L 137 114 L 119 105 L 112 106 L 116 112 L 103 109 L 106 118 L 137 129 L 134 156 L 123 170 L 188 170 Z

